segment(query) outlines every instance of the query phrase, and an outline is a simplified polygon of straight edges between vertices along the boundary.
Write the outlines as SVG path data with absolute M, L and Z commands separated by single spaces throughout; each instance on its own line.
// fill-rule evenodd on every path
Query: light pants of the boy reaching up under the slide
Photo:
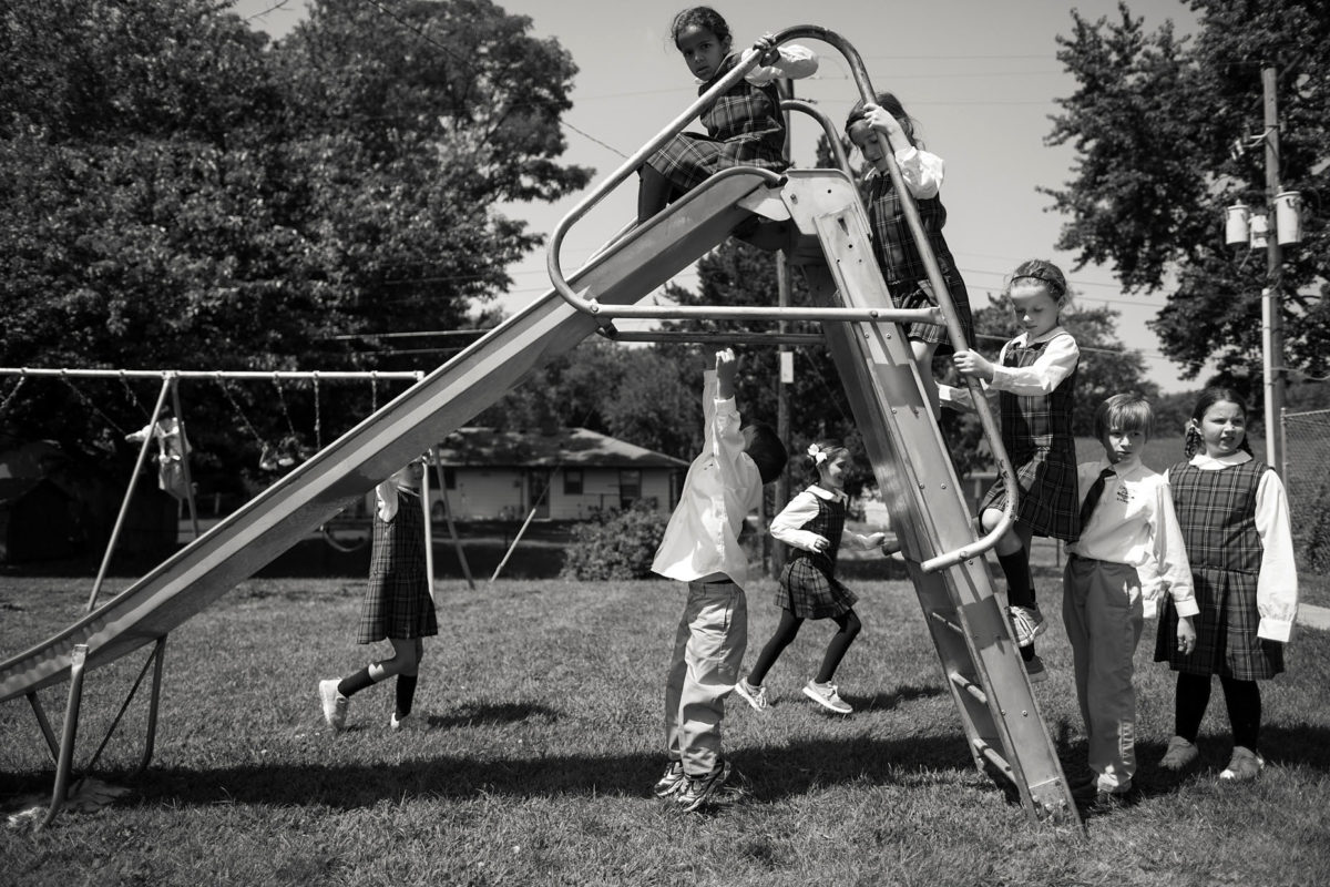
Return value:
M 689 582 L 665 681 L 665 747 L 701 777 L 721 758 L 725 697 L 747 648 L 747 598 L 734 582 Z

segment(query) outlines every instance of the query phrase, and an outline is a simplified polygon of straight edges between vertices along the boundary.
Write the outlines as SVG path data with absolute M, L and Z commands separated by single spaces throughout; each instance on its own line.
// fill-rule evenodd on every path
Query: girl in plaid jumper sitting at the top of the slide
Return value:
M 705 136 L 678 133 L 646 160 L 638 170 L 638 223 L 722 169 L 759 166 L 779 172 L 789 166 L 775 81 L 807 77 L 818 69 L 817 56 L 809 49 L 775 47 L 770 35 L 742 55 L 730 52 L 730 27 L 710 7 L 693 7 L 674 16 L 670 35 L 688 69 L 701 81 L 700 96 L 751 53 L 761 53 L 761 65 L 702 112 Z

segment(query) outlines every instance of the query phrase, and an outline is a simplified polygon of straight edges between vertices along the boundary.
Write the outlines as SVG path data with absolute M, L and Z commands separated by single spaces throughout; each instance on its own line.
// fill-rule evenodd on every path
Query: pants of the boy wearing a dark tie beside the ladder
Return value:
M 1063 621 L 1089 738 L 1089 769 L 1101 791 L 1125 790 L 1136 774 L 1132 657 L 1144 622 L 1136 568 L 1073 555 L 1063 576 Z

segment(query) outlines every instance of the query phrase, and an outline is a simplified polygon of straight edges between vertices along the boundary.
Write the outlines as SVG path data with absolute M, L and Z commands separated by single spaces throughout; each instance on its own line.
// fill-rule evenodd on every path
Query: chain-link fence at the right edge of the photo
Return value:
M 1283 463 L 1298 572 L 1330 576 L 1330 410 L 1283 415 Z

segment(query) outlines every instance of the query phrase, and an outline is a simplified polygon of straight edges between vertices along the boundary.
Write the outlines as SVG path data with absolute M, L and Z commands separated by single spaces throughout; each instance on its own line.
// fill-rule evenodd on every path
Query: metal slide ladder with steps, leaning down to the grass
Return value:
M 890 307 L 854 184 L 834 170 L 791 172 L 782 195 L 798 237 L 821 246 L 821 257 L 807 247 L 790 250 L 805 257 L 801 267 L 814 301 Z M 910 343 L 899 327 L 880 323 L 825 323 L 823 334 L 975 765 L 1005 777 L 1032 818 L 1076 821 L 1057 750 L 995 596 L 974 516 L 923 402 Z

